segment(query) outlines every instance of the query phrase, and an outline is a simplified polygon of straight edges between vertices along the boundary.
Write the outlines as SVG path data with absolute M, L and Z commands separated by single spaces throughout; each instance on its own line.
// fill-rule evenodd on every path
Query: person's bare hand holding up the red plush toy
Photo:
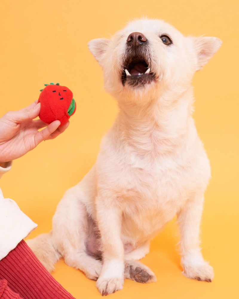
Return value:
M 22 157 L 43 140 L 56 138 L 68 127 L 69 121 L 59 127 L 59 120 L 49 125 L 40 119 L 33 120 L 39 115 L 40 107 L 41 103 L 37 104 L 36 100 L 30 106 L 7 112 L 0 118 L 0 162 Z

